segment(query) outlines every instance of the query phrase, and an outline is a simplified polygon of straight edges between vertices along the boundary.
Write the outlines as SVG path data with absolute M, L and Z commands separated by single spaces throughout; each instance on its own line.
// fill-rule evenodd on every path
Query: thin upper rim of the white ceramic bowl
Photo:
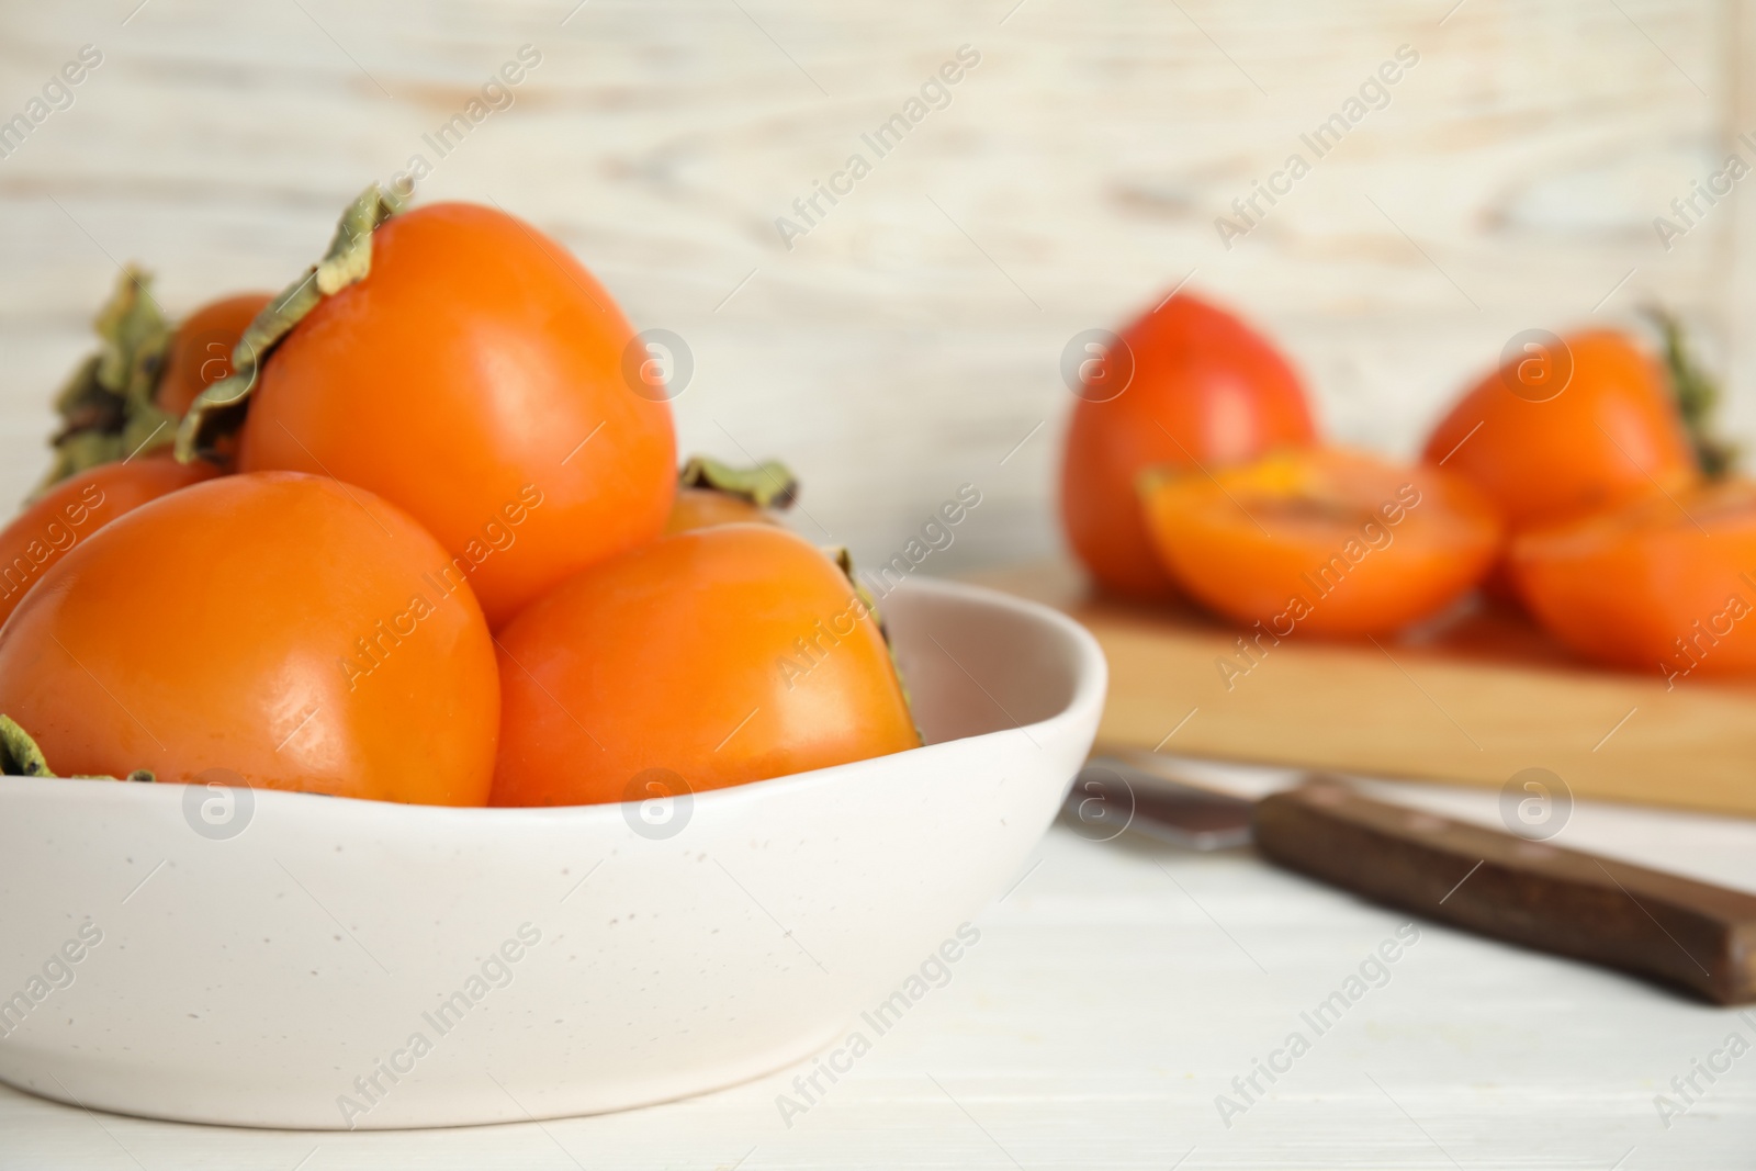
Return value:
M 971 602 L 980 602 L 994 609 L 1010 611 L 1013 614 L 1029 618 L 1045 627 L 1057 630 L 1075 651 L 1073 665 L 1073 693 L 1068 702 L 1061 706 L 1059 711 L 1034 720 L 1031 723 L 1015 723 L 1010 729 L 997 729 L 994 732 L 980 732 L 976 736 L 962 736 L 950 741 L 939 741 L 936 744 L 922 744 L 920 748 L 906 748 L 903 751 L 887 753 L 882 757 L 867 757 L 864 760 L 850 760 L 846 764 L 834 764 L 822 769 L 808 769 L 804 772 L 788 772 L 785 776 L 773 776 L 760 781 L 746 781 L 743 785 L 727 785 L 723 788 L 709 788 L 701 792 L 692 792 L 690 801 L 694 802 L 694 813 L 701 815 L 704 809 L 723 809 L 732 811 L 739 804 L 748 804 L 755 801 L 764 801 L 771 794 L 790 794 L 795 790 L 820 788 L 825 785 L 834 785 L 838 779 L 846 778 L 850 772 L 864 772 L 890 767 L 892 762 L 899 760 L 922 760 L 931 758 L 931 755 L 948 755 L 957 751 L 968 751 L 966 744 L 992 743 L 996 739 L 1017 739 L 1026 737 L 1033 743 L 1031 736 L 1036 730 L 1050 730 L 1057 725 L 1069 722 L 1078 722 L 1085 718 L 1087 711 L 1096 708 L 1101 711 L 1105 692 L 1108 686 L 1108 662 L 1105 660 L 1103 650 L 1098 639 L 1082 627 L 1078 621 L 1062 614 L 1061 611 L 1045 606 L 1041 602 L 1033 602 L 1003 590 L 994 590 L 990 586 L 973 585 L 968 581 L 954 581 L 945 578 L 908 578 L 899 583 L 897 592 L 939 595 L 939 597 L 959 597 Z M 1010 718 L 1010 716 L 1008 716 Z M 5 795 L 14 797 L 23 795 L 40 795 L 67 801 L 91 801 L 91 802 L 128 802 L 128 801 L 170 801 L 163 795 L 169 788 L 184 788 L 184 781 L 155 781 L 151 785 L 126 783 L 118 778 L 49 778 L 49 776 L 7 776 L 0 778 L 0 801 Z M 84 785 L 70 785 L 68 781 L 88 781 Z M 623 822 L 623 808 L 629 802 L 608 801 L 595 804 L 578 804 L 578 806 L 435 806 L 435 804 L 418 804 L 418 802 L 400 802 L 400 801 L 376 801 L 371 797 L 335 797 L 332 794 L 307 794 L 281 788 L 251 788 L 253 801 L 256 802 L 256 815 L 263 808 L 276 808 L 286 811 L 313 811 L 318 806 L 309 804 L 307 799 L 318 797 L 332 802 L 334 806 L 346 808 L 346 813 L 327 813 L 325 818 L 353 818 L 355 822 L 335 820 L 335 825 L 358 823 L 360 818 L 390 818 L 399 820 L 402 825 L 416 825 L 418 818 L 427 818 L 435 829 L 462 827 L 462 825 L 511 825 L 520 823 L 529 825 L 592 825 L 594 822 L 604 822 L 606 825 Z M 181 794 L 176 801 L 181 802 Z

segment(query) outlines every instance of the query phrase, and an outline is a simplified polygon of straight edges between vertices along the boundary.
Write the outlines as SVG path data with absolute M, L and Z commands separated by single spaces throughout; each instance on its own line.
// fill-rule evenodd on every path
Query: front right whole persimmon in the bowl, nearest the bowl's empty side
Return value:
M 699 528 L 587 569 L 499 646 L 497 806 L 644 799 L 648 771 L 702 792 L 920 744 L 846 576 L 773 525 Z

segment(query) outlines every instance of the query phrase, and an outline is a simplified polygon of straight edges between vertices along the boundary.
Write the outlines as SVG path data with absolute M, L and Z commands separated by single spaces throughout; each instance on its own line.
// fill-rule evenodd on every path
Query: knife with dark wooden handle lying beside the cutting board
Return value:
M 1249 801 L 1098 757 L 1064 816 L 1098 841 L 1254 841 L 1270 862 L 1373 902 L 1714 1004 L 1756 1001 L 1756 895 L 1375 801 L 1335 776 Z

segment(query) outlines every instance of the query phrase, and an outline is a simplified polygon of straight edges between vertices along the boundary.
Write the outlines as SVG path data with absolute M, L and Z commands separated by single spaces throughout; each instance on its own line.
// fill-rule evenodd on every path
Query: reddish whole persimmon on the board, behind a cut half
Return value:
M 1175 595 L 1147 535 L 1134 481 L 1147 467 L 1219 467 L 1308 446 L 1305 383 L 1261 334 L 1187 293 L 1122 330 L 1133 379 L 1113 399 L 1073 407 L 1061 465 L 1061 521 L 1098 583 L 1134 599 Z M 1085 386 L 1126 358 L 1090 365 Z

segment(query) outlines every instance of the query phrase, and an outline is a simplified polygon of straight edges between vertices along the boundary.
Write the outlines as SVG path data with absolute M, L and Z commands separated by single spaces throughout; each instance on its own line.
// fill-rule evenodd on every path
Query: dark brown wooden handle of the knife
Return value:
M 1324 778 L 1263 799 L 1252 825 L 1270 860 L 1377 902 L 1717 1004 L 1756 1001 L 1752 895 L 1371 801 Z

